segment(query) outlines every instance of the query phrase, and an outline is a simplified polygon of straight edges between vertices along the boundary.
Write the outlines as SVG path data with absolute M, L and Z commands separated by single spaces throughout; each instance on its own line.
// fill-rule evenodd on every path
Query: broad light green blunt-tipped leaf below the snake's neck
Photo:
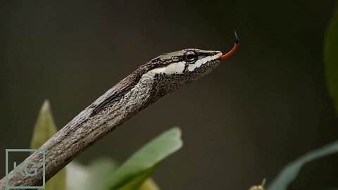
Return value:
M 174 127 L 150 141 L 118 168 L 106 189 L 139 189 L 164 158 L 182 147 L 180 137 L 180 129 Z

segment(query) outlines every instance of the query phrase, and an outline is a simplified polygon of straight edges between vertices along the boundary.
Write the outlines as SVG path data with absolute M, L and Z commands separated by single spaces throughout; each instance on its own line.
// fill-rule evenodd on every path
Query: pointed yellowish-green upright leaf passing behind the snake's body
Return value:
M 57 132 L 53 115 L 51 113 L 51 106 L 49 101 L 45 100 L 42 105 L 37 122 L 35 122 L 34 132 L 30 148 L 37 149 L 44 144 Z M 65 189 L 65 169 L 60 170 L 54 177 L 46 182 L 46 190 L 63 190 Z

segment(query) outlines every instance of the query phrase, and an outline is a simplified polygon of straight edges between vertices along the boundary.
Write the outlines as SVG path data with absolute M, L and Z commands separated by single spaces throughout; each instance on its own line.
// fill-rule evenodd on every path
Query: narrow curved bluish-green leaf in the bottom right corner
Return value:
M 282 172 L 277 176 L 272 184 L 268 187 L 268 190 L 284 190 L 287 189 L 294 179 L 296 179 L 301 167 L 306 163 L 309 163 L 315 159 L 329 156 L 333 153 L 338 153 L 338 141 L 334 141 L 332 144 L 319 148 L 318 150 L 306 153 L 301 158 L 289 163 Z

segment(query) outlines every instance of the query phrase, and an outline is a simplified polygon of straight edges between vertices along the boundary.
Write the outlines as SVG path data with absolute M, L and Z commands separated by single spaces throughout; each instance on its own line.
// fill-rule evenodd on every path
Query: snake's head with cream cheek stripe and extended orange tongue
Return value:
M 171 53 L 163 53 L 152 59 L 145 66 L 144 78 L 154 82 L 158 89 L 174 91 L 184 84 L 193 82 L 216 68 L 220 61 L 225 60 L 238 47 L 237 34 L 234 47 L 227 53 L 201 49 L 183 49 Z

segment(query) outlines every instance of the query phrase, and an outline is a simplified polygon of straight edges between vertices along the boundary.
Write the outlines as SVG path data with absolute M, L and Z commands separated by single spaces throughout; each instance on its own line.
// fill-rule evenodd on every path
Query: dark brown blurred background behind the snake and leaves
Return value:
M 77 160 L 108 156 L 123 162 L 177 125 L 184 146 L 156 171 L 162 189 L 249 189 L 263 177 L 271 182 L 285 164 L 338 139 L 323 70 L 333 5 L 2 0 L 0 176 L 6 148 L 29 148 L 44 99 L 51 101 L 60 129 L 151 58 L 185 48 L 228 51 L 235 29 L 240 46 L 234 56 L 146 108 Z M 293 188 L 338 186 L 337 158 L 304 167 Z

